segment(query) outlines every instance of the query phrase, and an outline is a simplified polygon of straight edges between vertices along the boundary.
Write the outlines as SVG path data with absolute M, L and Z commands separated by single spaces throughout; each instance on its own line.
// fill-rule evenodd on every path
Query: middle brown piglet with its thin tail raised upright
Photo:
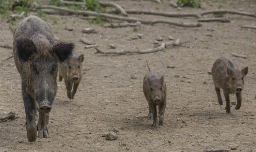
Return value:
M 143 80 L 143 92 L 148 101 L 148 119 L 152 119 L 152 126 L 158 128 L 158 125 L 162 126 L 164 124 L 164 111 L 166 107 L 166 84 L 164 83 L 164 75 L 158 77 L 157 73 L 151 71 L 149 66 L 148 70 L 149 73 L 145 75 Z M 156 109 L 157 106 L 158 114 Z M 159 122 L 157 115 L 159 115 Z

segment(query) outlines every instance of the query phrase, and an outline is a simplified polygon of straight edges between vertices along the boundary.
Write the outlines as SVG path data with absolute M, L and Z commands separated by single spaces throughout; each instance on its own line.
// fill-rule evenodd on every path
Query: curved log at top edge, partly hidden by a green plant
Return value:
M 60 0 L 60 2 L 62 4 L 69 4 L 69 5 L 84 5 L 86 6 L 85 2 L 69 2 L 69 1 L 65 1 L 65 0 Z M 100 5 L 105 6 L 105 7 L 114 7 L 117 9 L 118 12 L 120 12 L 123 16 L 127 16 L 127 12 L 125 12 L 125 10 L 118 5 L 117 3 L 114 2 L 102 2 L 99 1 Z

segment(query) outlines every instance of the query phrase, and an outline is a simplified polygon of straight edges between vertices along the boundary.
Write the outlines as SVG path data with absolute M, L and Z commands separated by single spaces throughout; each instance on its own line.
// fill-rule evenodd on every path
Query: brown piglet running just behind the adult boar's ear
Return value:
M 59 81 L 64 78 L 67 88 L 67 97 L 74 99 L 77 87 L 83 76 L 83 54 L 78 55 L 75 51 L 72 52 L 65 62 L 60 63 L 59 67 Z M 72 90 L 73 87 L 73 90 Z

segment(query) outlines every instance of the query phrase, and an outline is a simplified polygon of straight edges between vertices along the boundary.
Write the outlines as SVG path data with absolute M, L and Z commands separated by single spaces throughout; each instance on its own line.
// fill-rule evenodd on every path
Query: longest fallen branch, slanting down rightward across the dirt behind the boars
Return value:
M 98 16 L 102 18 L 110 18 L 114 20 L 123 20 L 127 22 L 141 22 L 142 24 L 156 24 L 156 23 L 163 23 L 163 24 L 171 24 L 175 26 L 181 26 L 181 27 L 200 27 L 202 24 L 200 23 L 184 23 L 184 22 L 176 22 L 172 20 L 144 20 L 144 19 L 137 19 L 137 18 L 129 18 L 124 16 L 117 16 L 107 13 L 98 13 L 93 11 L 83 11 L 83 10 L 71 10 L 68 8 L 62 8 L 58 6 L 50 6 L 50 5 L 41 5 L 38 6 L 36 9 L 54 9 L 54 10 L 60 10 L 63 12 L 69 12 L 71 14 L 81 14 L 81 15 L 87 15 L 87 16 Z

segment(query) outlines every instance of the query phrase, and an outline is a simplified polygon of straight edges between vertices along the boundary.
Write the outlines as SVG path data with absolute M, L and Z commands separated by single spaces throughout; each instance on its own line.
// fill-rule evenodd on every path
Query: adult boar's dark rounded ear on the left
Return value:
M 36 52 L 35 44 L 30 39 L 19 39 L 16 43 L 19 58 L 27 61 L 29 57 Z

